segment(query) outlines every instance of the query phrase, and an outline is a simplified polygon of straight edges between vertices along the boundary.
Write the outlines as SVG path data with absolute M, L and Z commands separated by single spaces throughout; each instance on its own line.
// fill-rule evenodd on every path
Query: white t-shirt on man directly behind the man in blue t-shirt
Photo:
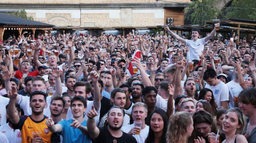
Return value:
M 92 107 L 92 105 L 93 105 L 93 101 L 88 101 L 87 100 L 87 108 L 86 108 L 86 110 L 85 110 L 85 112 L 84 112 L 84 120 L 88 120 L 88 116 L 86 115 L 86 113 L 91 109 L 91 107 Z M 98 113 L 98 115 L 95 117 L 95 121 L 96 121 L 96 125 L 99 123 L 99 121 L 100 121 L 100 108 L 99 108 L 99 110 L 97 111 L 97 113 Z M 72 119 L 73 118 L 73 114 L 72 114 L 72 111 L 71 111 L 71 108 L 69 107 L 69 109 L 68 109 L 68 112 L 67 112 L 67 117 L 66 117 L 66 120 L 70 120 L 70 119 Z

